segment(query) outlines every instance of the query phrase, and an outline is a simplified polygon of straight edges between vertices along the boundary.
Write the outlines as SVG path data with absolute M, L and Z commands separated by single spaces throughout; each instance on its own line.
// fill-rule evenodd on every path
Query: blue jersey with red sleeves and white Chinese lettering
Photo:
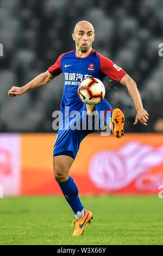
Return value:
M 122 68 L 93 49 L 84 58 L 77 57 L 76 51 L 63 53 L 54 65 L 48 68 L 48 72 L 53 76 L 64 73 L 65 85 L 61 111 L 68 106 L 70 112 L 79 111 L 83 106 L 83 102 L 78 97 L 78 86 L 84 79 L 98 78 L 103 82 L 107 75 L 116 82 L 120 82 L 126 74 Z

